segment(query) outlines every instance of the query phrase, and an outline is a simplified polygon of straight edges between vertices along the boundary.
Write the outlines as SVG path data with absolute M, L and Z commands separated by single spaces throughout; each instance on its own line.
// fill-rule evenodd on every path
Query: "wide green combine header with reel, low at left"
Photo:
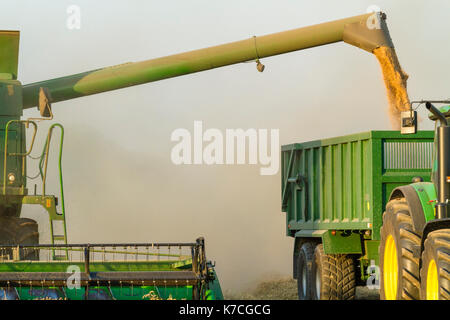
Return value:
M 223 299 L 203 238 L 195 243 L 3 245 L 0 254 L 0 299 Z

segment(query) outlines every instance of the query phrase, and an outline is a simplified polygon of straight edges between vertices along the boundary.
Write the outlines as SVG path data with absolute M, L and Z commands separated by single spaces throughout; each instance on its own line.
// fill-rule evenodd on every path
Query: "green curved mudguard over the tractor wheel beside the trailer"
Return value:
M 422 236 L 425 225 L 434 219 L 436 189 L 431 182 L 417 182 L 395 188 L 389 200 L 404 197 L 408 202 L 414 231 Z

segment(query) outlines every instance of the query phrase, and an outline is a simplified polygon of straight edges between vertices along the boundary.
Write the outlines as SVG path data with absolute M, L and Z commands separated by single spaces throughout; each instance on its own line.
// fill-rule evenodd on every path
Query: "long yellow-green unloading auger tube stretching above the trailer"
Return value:
M 205 49 L 142 62 L 126 63 L 23 87 L 23 108 L 36 106 L 40 88 L 47 88 L 51 102 L 64 101 L 100 92 L 210 70 L 227 65 L 303 50 L 339 41 L 369 52 L 393 47 L 385 14 L 369 13 L 309 27 L 251 37 Z M 262 71 L 262 65 L 257 65 Z

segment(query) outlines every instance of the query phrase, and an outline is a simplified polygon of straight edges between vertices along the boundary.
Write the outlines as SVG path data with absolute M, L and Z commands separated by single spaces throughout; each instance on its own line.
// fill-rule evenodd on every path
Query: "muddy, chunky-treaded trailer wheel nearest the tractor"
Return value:
M 314 300 L 353 300 L 356 281 L 353 259 L 346 254 L 325 254 L 323 245 L 314 250 L 312 265 Z

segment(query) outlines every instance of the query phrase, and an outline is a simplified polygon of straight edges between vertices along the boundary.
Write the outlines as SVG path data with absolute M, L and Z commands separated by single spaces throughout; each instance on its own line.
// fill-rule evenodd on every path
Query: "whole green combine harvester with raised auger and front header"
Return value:
M 30 195 L 26 185 L 26 158 L 33 148 L 37 122 L 53 118 L 52 103 L 247 61 L 256 61 L 257 69 L 263 71 L 262 58 L 339 41 L 371 53 L 384 48 L 397 61 L 385 15 L 370 13 L 23 86 L 17 81 L 19 32 L 0 32 L 0 143 L 3 151 L 0 161 L 3 168 L 0 287 L 4 288 L 0 295 L 20 299 L 49 296 L 69 299 L 221 298 L 214 269 L 206 261 L 202 239 L 187 244 L 67 244 L 61 171 L 64 131 L 60 124 L 50 127 L 39 157 L 42 193 L 37 194 L 35 186 Z M 35 106 L 41 118 L 22 119 L 23 110 Z M 30 127 L 34 133 L 27 148 L 25 133 Z M 45 190 L 50 140 L 55 128 L 61 131 L 59 201 Z M 61 204 L 59 211 L 58 202 Z M 22 204 L 36 204 L 47 210 L 51 244 L 39 245 L 36 222 L 20 218 Z M 60 234 L 56 234 L 56 223 L 62 225 Z M 189 249 L 187 254 L 181 253 L 184 247 Z M 162 248 L 166 252 L 158 251 Z M 176 250 L 180 253 L 173 253 Z M 149 259 L 151 257 L 158 260 Z M 40 262 L 30 264 L 30 260 Z M 66 281 L 71 275 L 66 272 L 67 267 L 73 265 L 82 275 L 79 291 L 70 290 Z

